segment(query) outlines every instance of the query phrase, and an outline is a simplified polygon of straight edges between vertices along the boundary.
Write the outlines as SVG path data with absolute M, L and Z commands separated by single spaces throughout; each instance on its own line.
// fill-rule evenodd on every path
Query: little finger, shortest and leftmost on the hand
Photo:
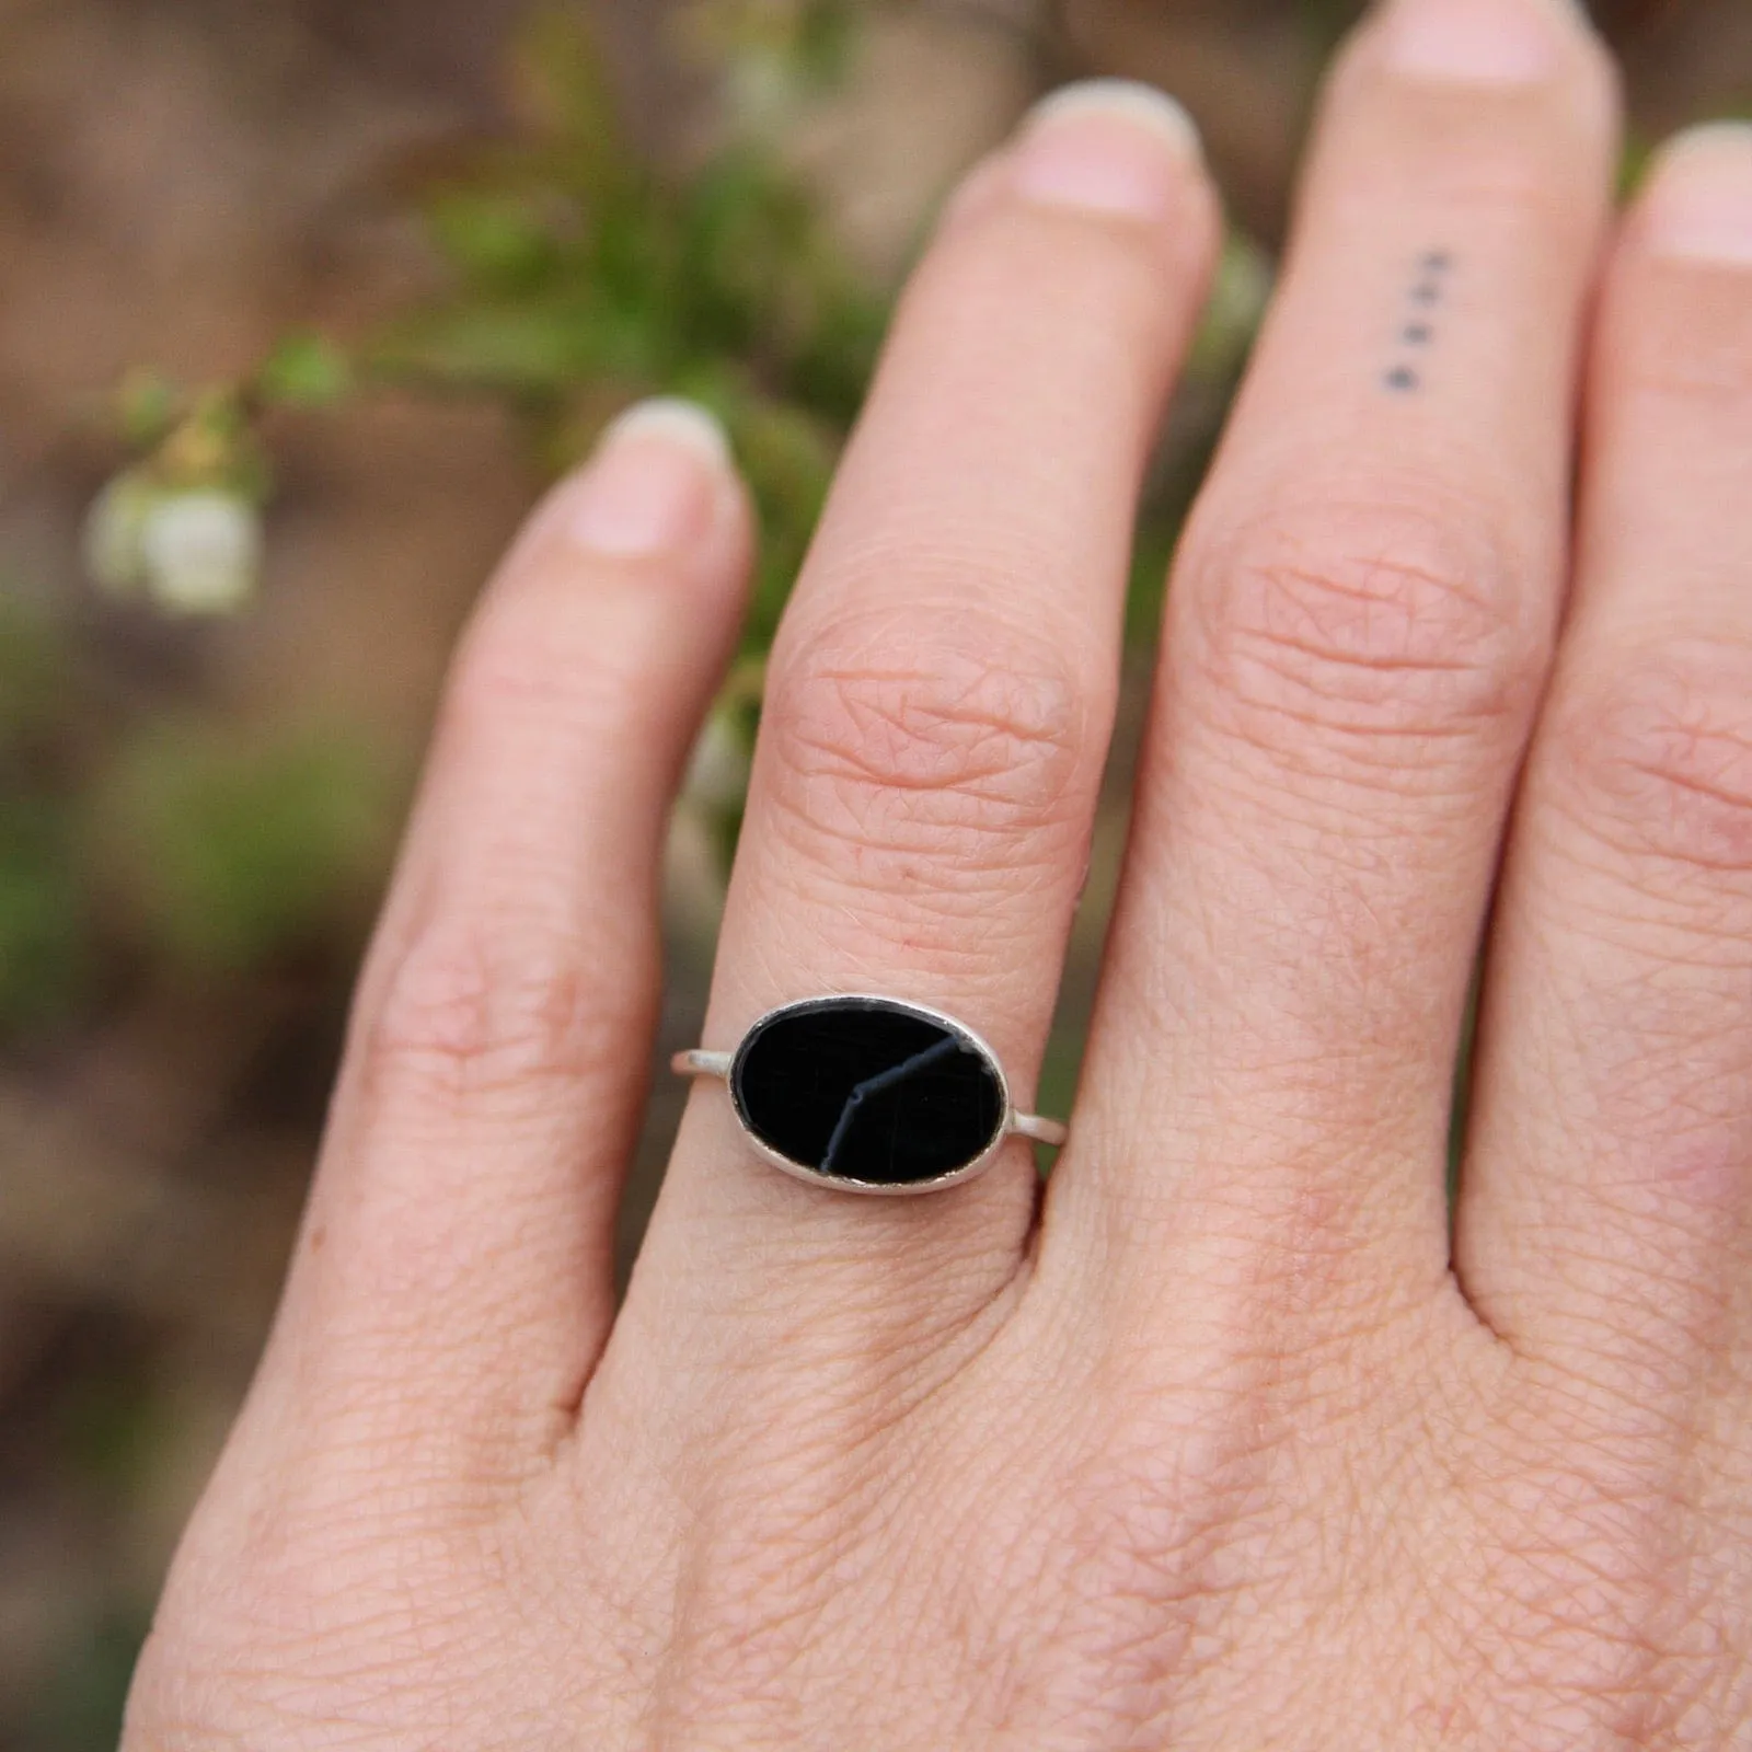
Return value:
M 396 1382 L 427 1430 L 434 1400 L 471 1430 L 550 1416 L 606 1333 L 661 843 L 748 541 L 717 427 L 646 403 L 457 655 L 277 1339 L 366 1403 Z

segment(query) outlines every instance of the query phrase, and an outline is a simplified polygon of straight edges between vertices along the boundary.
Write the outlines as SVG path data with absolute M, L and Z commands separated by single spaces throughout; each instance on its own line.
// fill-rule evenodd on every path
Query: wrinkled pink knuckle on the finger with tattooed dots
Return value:
M 1195 547 L 1195 662 L 1223 727 L 1282 753 L 1519 725 L 1549 632 L 1463 519 L 1323 506 Z

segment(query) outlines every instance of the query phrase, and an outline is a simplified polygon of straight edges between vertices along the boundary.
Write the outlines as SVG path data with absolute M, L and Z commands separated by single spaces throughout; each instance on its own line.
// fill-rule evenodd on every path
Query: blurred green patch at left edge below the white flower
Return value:
M 131 715 L 0 580 L 0 1039 L 77 1021 L 105 965 L 230 978 L 352 941 L 394 801 L 340 725 Z

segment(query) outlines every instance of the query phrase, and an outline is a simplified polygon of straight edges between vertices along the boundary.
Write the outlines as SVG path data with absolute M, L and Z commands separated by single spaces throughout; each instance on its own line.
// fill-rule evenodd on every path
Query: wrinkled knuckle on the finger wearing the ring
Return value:
M 764 720 L 769 795 L 811 857 L 1009 867 L 1081 832 L 1086 697 L 1076 662 L 983 617 L 929 638 L 888 620 L 797 652 Z

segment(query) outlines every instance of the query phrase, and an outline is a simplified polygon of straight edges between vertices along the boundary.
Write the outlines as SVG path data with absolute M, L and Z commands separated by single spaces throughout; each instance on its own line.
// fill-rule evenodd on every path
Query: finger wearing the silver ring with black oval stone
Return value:
M 1027 1104 L 1107 750 L 1139 478 L 1214 244 L 1190 124 L 1135 88 L 1060 95 L 955 203 L 773 652 L 708 1046 L 792 999 L 888 993 L 974 1027 Z M 913 1321 L 920 1298 L 953 1323 L 1014 1275 L 1032 1202 L 1020 1142 L 923 1200 L 794 1183 L 703 1086 L 631 1305 L 646 1277 L 703 1310 L 790 1284 L 816 1333 L 823 1310 L 874 1330 L 876 1303 Z

